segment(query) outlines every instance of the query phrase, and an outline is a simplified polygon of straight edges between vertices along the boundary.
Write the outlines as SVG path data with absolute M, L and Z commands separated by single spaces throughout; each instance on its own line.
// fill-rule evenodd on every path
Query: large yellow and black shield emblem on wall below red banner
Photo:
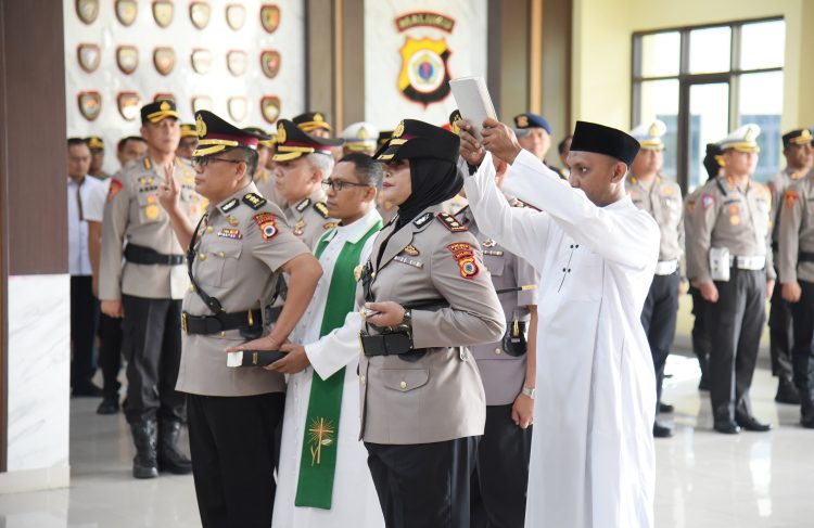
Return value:
M 398 90 L 407 99 L 428 106 L 449 95 L 447 61 L 451 52 L 446 40 L 407 37 L 400 53 Z

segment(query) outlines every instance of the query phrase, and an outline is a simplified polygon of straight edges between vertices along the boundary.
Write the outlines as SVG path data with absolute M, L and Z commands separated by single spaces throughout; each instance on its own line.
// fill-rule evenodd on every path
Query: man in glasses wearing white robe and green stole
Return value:
M 376 189 L 381 183 L 381 164 L 363 154 L 351 154 L 336 164 L 331 178 L 323 182 L 329 214 L 341 223 L 322 235 L 315 247 L 325 272 L 291 335 L 292 342 L 300 345 L 284 345 L 282 350 L 288 351 L 288 356 L 268 366 L 289 374 L 272 527 L 384 526 L 376 488 L 367 471 L 368 453 L 358 440 L 359 307 L 352 305 L 354 311 L 334 314 L 346 324 L 320 337 L 325 317 L 340 309 L 328 302 L 329 298 L 335 299 L 329 295 L 334 293 L 335 274 L 341 269 L 345 272 L 349 269 L 353 274 L 358 265 L 366 262 L 376 233 L 381 229 L 381 217 L 376 210 Z M 360 253 L 354 254 L 357 255 L 354 261 L 340 268 L 339 262 L 348 258 L 348 245 L 359 244 L 363 247 Z M 353 298 L 356 289 L 353 275 L 349 282 Z M 311 385 L 315 376 L 327 381 L 334 375 L 344 376 L 339 421 L 329 424 L 329 441 L 316 446 L 310 441 L 314 428 L 314 416 L 309 416 Z M 301 469 L 326 464 L 330 450 L 335 450 L 335 467 L 332 489 L 328 485 L 326 490 L 325 472 L 301 475 Z M 320 493 L 322 497 L 318 497 Z

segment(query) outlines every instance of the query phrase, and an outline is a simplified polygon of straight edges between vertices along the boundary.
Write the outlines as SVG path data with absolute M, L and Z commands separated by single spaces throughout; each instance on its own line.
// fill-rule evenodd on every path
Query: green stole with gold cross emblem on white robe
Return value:
M 328 299 L 322 314 L 319 336 L 330 334 L 345 322 L 345 315 L 354 310 L 356 279 L 354 268 L 359 265 L 365 242 L 382 227 L 378 221 L 355 244 L 345 242 L 331 275 Z M 322 237 L 315 255 L 319 258 L 329 242 Z M 297 506 L 331 508 L 333 477 L 336 469 L 340 412 L 342 411 L 342 389 L 345 383 L 345 369 L 322 379 L 314 372 L 310 382 L 308 412 L 305 415 L 305 437 L 300 461 L 300 478 L 296 485 Z

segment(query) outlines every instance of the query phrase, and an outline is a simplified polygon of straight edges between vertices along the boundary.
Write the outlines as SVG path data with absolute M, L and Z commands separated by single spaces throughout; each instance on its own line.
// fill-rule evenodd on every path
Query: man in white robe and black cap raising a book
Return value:
M 624 192 L 638 142 L 577 121 L 569 186 L 505 125 L 486 119 L 481 141 L 461 128 L 478 224 L 542 273 L 526 526 L 651 527 L 654 374 L 639 314 L 659 228 Z M 505 192 L 544 213 L 506 203 L 484 149 L 511 165 Z

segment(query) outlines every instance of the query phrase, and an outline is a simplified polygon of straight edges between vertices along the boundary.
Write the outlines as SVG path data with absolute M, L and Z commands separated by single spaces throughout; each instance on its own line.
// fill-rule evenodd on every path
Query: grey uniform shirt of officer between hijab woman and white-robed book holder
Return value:
M 512 203 L 512 202 L 510 202 Z M 517 202 L 513 202 L 517 203 Z M 507 252 L 499 243 L 481 234 L 474 215 L 469 207 L 463 208 L 457 218 L 469 228 L 483 248 L 483 263 L 492 275 L 495 289 L 539 285 L 539 273 L 525 259 Z M 536 305 L 539 289 L 530 289 L 498 295 L 507 326 L 513 321 L 530 320 L 529 305 Z M 508 330 L 508 329 L 507 329 Z M 508 405 L 514 402 L 525 382 L 526 356 L 509 356 L 503 339 L 484 345 L 472 345 L 472 356 L 481 371 L 487 405 Z

